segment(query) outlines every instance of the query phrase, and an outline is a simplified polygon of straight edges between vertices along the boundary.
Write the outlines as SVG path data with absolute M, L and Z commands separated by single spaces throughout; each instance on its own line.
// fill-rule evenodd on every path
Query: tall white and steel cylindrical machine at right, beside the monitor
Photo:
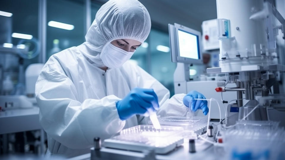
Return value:
M 239 119 L 252 111 L 247 120 L 270 120 L 268 109 L 283 111 L 280 77 L 285 66 L 278 60 L 276 35 L 285 35 L 285 20 L 270 1 L 217 1 L 217 26 L 220 40 L 219 68 L 207 73 L 225 73 L 226 84 L 217 92 L 236 92 Z M 275 24 L 277 19 L 281 25 Z M 284 44 L 283 44 L 284 45 Z M 284 85 L 284 84 L 283 84 Z M 284 92 L 284 91 L 283 91 Z M 226 95 L 227 93 L 225 93 Z M 283 97 L 283 98 L 282 98 Z M 246 104 L 243 99 L 249 100 Z M 284 123 L 284 116 L 278 121 Z

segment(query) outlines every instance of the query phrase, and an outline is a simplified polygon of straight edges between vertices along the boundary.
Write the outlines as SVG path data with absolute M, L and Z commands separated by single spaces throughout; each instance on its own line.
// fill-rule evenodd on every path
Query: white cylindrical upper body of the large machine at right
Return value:
M 265 20 L 249 19 L 262 9 L 263 0 L 217 0 L 218 21 L 229 20 L 228 37 L 220 38 L 222 72 L 239 72 L 243 71 L 242 66 L 268 64 L 262 58 L 268 54 Z

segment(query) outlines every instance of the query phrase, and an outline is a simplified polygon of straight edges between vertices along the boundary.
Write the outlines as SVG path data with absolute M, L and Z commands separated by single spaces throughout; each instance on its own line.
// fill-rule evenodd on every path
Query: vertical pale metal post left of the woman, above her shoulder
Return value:
M 47 1 L 39 0 L 38 36 L 40 44 L 39 63 L 46 62 L 47 46 Z

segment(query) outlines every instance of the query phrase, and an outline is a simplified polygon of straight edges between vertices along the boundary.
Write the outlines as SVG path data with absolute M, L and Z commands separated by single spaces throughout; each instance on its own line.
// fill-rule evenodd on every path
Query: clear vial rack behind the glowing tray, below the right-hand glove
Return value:
M 183 137 L 196 139 L 197 134 L 205 131 L 207 127 L 207 117 L 180 117 L 180 116 L 167 116 L 159 117 L 159 123 L 161 126 L 176 126 L 184 129 Z M 152 124 L 148 121 L 148 124 Z

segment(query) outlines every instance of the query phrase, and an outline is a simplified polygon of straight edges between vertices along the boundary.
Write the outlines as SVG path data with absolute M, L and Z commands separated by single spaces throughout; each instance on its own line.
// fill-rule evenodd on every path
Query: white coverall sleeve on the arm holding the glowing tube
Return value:
M 35 93 L 43 129 L 68 148 L 90 148 L 94 137 L 109 138 L 126 123 L 118 116 L 120 98 L 114 95 L 78 101 L 75 85 L 53 57 L 42 69 Z

